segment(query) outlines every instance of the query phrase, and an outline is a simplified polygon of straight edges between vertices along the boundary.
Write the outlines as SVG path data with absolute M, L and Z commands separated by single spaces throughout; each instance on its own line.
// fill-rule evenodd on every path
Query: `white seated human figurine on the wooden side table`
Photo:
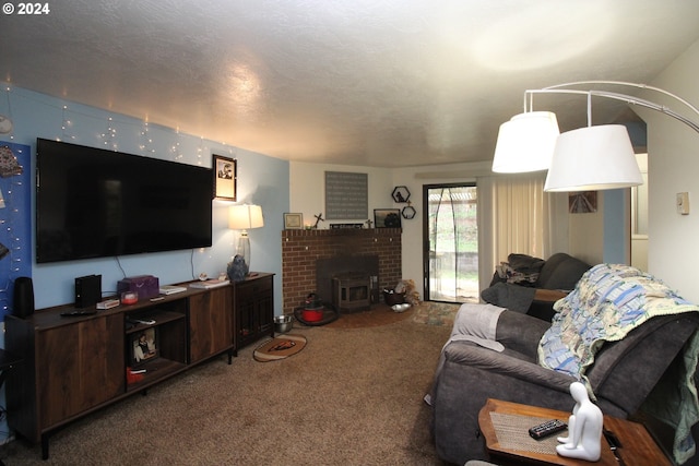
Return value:
M 596 462 L 602 454 L 602 410 L 590 401 L 588 390 L 580 382 L 570 384 L 576 401 L 568 418 L 568 437 L 559 437 L 556 452 L 561 456 Z

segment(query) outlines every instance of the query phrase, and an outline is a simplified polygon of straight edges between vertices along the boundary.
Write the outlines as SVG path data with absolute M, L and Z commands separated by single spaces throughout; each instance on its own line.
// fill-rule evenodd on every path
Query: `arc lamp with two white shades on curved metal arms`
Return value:
M 596 191 L 643 183 L 628 131 L 621 124 L 592 126 L 592 97 L 611 98 L 660 111 L 699 132 L 699 123 L 668 107 L 611 91 L 580 89 L 580 86 L 623 86 L 653 91 L 672 97 L 699 116 L 682 97 L 645 84 L 621 81 L 578 81 L 541 89 L 524 91 L 524 112 L 500 126 L 493 171 L 525 172 L 548 169 L 544 191 Z M 582 94 L 588 96 L 588 127 L 565 133 L 556 115 L 534 111 L 535 94 Z

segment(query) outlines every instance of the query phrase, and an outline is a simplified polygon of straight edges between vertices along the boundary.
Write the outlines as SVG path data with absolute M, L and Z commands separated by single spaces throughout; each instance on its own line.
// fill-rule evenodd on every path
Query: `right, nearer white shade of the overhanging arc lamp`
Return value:
M 629 133 L 620 124 L 558 136 L 544 191 L 597 191 L 643 184 Z

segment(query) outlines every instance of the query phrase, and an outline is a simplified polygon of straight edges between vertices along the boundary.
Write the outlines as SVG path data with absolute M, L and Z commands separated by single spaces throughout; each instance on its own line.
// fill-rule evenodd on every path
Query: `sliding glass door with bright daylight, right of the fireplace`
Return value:
M 475 184 L 423 187 L 425 299 L 478 301 Z

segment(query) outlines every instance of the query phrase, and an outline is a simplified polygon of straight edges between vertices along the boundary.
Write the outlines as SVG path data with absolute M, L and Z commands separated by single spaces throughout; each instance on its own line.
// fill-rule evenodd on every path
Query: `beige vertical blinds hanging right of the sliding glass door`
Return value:
M 545 180 L 546 172 L 477 178 L 481 289 L 488 287 L 495 266 L 512 252 L 547 259 L 560 250 L 554 242 L 555 230 L 559 201 L 567 196 L 545 193 Z

